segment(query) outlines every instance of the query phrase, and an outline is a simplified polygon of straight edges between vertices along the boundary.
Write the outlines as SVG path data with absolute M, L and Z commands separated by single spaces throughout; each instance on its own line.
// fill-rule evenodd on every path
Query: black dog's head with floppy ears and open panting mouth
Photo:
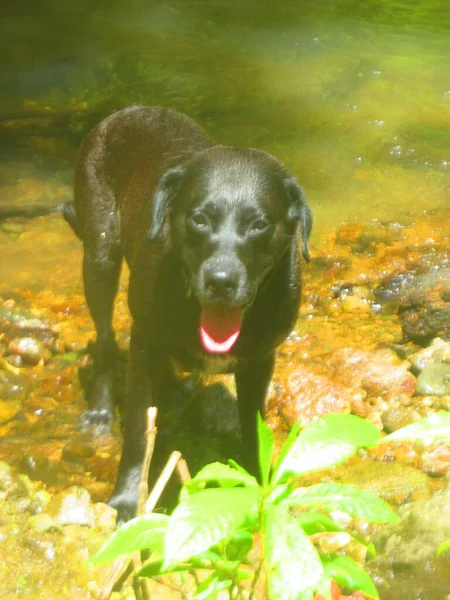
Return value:
M 216 146 L 170 169 L 157 186 L 151 218 L 150 240 L 169 232 L 201 305 L 200 336 L 211 353 L 232 348 L 244 311 L 298 228 L 309 260 L 312 216 L 303 191 L 258 150 Z

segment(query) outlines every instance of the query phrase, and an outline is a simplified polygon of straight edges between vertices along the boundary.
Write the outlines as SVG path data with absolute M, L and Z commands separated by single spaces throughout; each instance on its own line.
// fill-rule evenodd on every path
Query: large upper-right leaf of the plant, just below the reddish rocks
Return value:
M 355 415 L 330 413 L 310 423 L 297 437 L 279 466 L 274 481 L 333 467 L 362 447 L 374 445 L 378 429 Z

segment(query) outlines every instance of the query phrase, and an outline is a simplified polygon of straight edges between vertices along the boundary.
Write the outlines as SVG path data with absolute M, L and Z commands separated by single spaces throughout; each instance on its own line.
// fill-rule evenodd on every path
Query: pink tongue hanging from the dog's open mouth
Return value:
M 242 312 L 238 308 L 202 307 L 200 339 L 207 352 L 224 354 L 236 342 L 242 325 Z

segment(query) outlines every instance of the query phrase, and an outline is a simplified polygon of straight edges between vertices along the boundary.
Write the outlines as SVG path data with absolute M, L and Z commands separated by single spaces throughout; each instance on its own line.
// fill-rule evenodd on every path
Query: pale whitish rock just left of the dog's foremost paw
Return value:
M 95 513 L 87 490 L 71 487 L 56 494 L 45 511 L 60 525 L 86 525 L 94 527 Z

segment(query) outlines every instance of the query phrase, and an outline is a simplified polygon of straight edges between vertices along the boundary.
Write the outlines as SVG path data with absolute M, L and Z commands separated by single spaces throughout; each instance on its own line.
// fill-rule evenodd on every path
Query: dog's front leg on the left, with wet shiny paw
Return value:
M 130 339 L 124 437 L 119 474 L 109 504 L 117 522 L 136 515 L 138 486 L 145 454 L 147 408 L 158 406 L 161 388 L 170 375 L 170 363 L 141 340 L 133 327 Z

